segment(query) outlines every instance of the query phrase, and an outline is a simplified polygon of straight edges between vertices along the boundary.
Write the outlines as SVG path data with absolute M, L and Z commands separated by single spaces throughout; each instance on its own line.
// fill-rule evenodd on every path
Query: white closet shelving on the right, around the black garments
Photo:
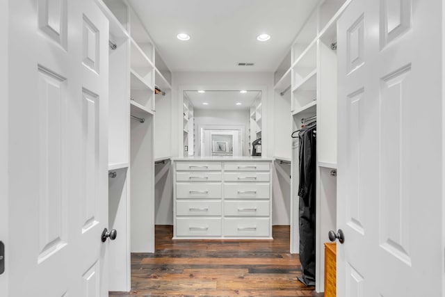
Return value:
M 298 252 L 299 144 L 296 131 L 308 118 L 317 121 L 316 166 L 316 290 L 323 291 L 324 248 L 327 232 L 337 230 L 337 19 L 350 0 L 320 1 L 307 18 L 289 55 L 275 72 L 275 117 L 291 111 L 290 123 L 277 120 L 275 156 L 291 154 L 291 252 Z M 287 70 L 286 70 L 287 68 Z M 289 109 L 290 107 L 290 109 Z M 286 127 L 291 125 L 291 129 Z M 283 136 L 282 131 L 289 131 Z M 297 134 L 298 135 L 298 134 Z M 284 158 L 281 158 L 284 157 Z M 331 174 L 332 172 L 332 174 Z

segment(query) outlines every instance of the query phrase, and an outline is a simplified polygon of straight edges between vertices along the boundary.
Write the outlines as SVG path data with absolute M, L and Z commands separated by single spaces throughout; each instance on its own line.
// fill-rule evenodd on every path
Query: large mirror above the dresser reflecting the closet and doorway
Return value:
M 184 156 L 250 156 L 261 91 L 184 91 Z

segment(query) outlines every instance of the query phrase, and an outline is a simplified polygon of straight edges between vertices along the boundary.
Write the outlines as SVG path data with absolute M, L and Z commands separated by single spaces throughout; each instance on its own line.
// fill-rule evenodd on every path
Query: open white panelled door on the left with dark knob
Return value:
M 108 296 L 108 20 L 9 1 L 10 296 Z

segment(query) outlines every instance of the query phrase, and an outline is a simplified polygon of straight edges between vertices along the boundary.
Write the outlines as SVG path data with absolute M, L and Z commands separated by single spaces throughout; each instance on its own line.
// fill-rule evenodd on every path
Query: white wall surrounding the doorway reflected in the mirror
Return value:
M 201 155 L 201 132 L 200 128 L 209 125 L 224 126 L 229 129 L 231 126 L 243 126 L 243 155 L 248 155 L 248 130 L 249 130 L 249 110 L 243 111 L 216 111 L 195 109 L 195 156 Z M 234 127 L 236 129 L 236 127 Z

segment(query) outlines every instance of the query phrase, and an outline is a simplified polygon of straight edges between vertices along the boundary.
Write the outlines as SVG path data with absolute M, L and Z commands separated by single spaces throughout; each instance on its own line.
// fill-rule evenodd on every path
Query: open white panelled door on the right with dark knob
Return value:
M 442 296 L 442 1 L 337 24 L 337 296 Z

